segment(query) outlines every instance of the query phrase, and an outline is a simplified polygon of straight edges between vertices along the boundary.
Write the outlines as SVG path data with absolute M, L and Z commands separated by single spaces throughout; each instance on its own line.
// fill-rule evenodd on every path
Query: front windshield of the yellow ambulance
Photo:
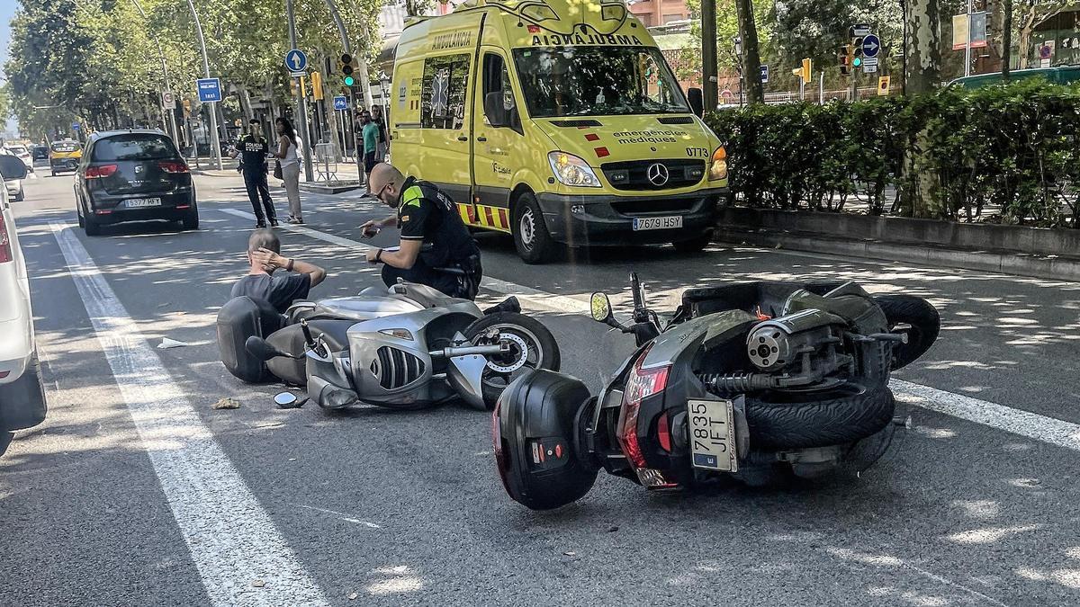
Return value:
M 690 111 L 658 49 L 515 49 L 514 62 L 531 118 Z

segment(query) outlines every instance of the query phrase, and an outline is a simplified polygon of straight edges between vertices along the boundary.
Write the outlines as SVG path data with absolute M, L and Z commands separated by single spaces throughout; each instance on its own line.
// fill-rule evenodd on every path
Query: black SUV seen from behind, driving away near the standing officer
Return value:
M 199 229 L 191 172 L 160 131 L 94 133 L 75 181 L 79 226 L 97 235 L 102 225 L 165 219 Z

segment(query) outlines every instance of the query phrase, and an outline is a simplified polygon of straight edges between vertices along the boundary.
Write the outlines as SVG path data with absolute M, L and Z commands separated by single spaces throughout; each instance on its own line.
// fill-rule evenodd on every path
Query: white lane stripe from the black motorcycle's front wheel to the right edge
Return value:
M 893 379 L 892 388 L 910 404 L 1080 451 L 1080 424 L 963 394 L 944 392 L 903 379 Z

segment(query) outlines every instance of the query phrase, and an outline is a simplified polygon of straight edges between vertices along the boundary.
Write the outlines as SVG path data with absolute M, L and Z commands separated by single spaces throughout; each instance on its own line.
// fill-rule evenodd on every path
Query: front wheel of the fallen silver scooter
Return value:
M 539 321 L 515 312 L 488 314 L 464 331 L 474 346 L 505 343 L 504 354 L 487 356 L 482 389 L 487 410 L 495 408 L 510 382 L 536 369 L 558 370 L 561 356 L 555 336 Z

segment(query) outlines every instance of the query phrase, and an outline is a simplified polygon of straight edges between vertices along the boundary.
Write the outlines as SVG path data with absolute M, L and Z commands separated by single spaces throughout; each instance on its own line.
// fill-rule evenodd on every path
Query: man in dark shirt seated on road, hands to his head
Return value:
M 281 241 L 265 228 L 252 232 L 247 240 L 247 260 L 251 271 L 232 285 L 232 297 L 262 299 L 282 313 L 297 299 L 306 299 L 308 292 L 326 278 L 326 270 L 319 266 L 282 257 Z M 281 268 L 285 271 L 274 274 Z

